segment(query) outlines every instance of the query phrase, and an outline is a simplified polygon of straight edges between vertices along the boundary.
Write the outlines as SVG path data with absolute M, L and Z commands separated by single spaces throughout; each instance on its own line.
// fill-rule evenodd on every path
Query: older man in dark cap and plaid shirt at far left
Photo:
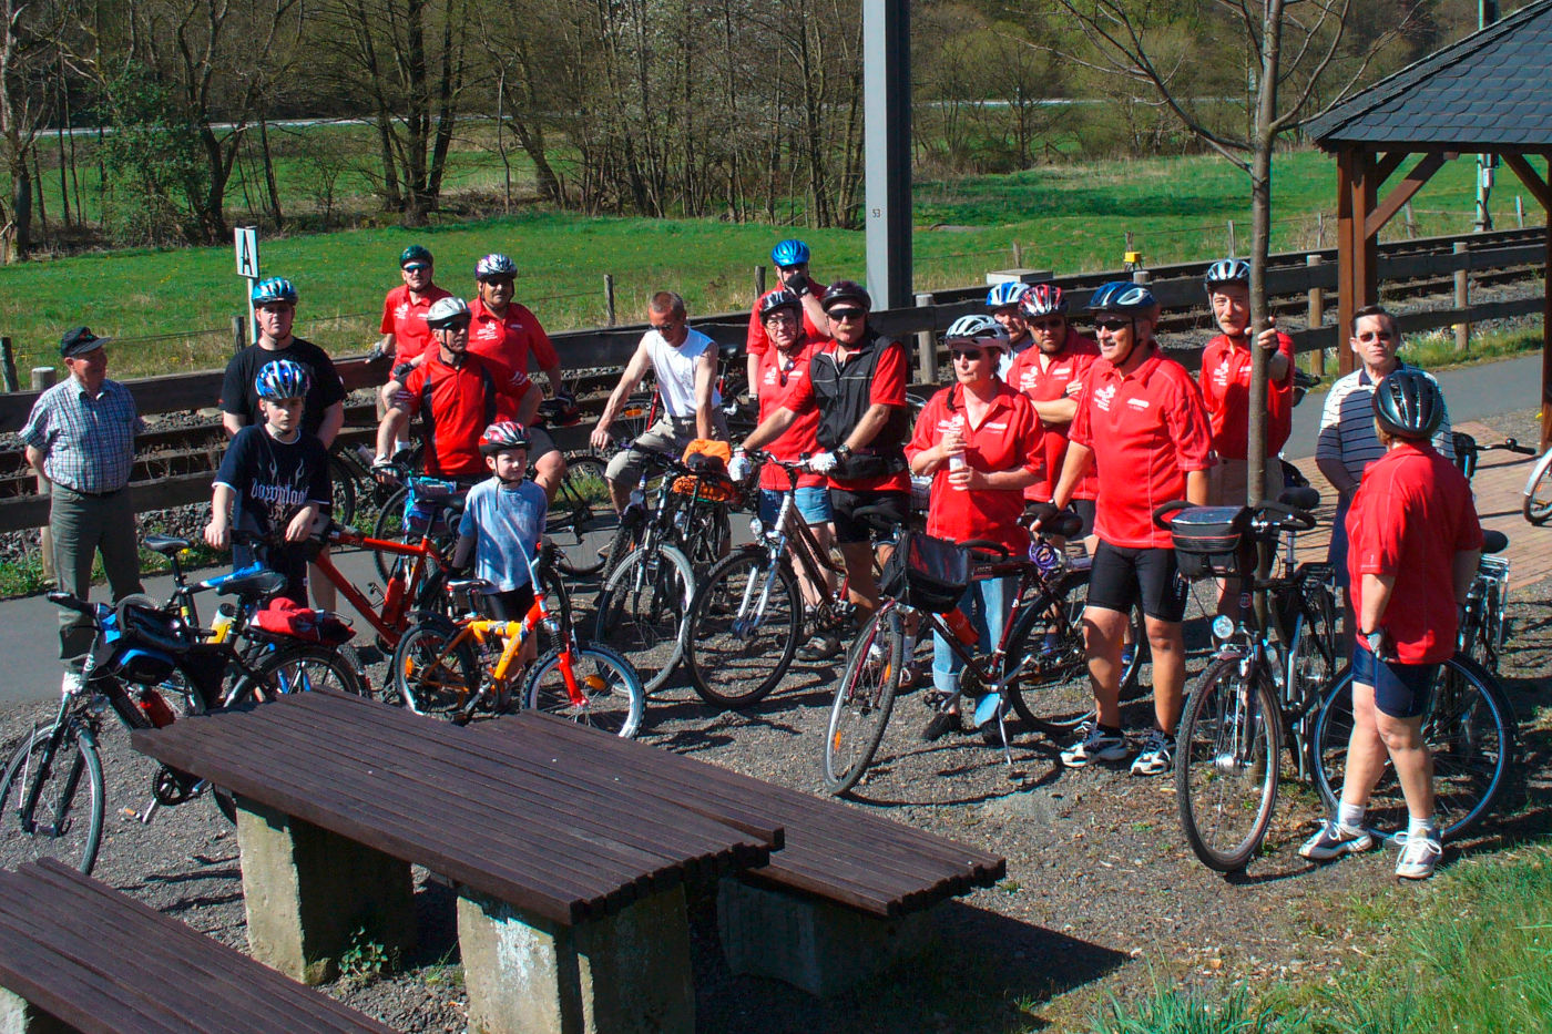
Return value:
M 92 592 L 92 560 L 101 551 L 113 601 L 140 587 L 135 508 L 129 501 L 129 474 L 135 463 L 135 435 L 144 427 L 129 388 L 107 379 L 110 338 L 84 326 L 59 338 L 59 354 L 70 377 L 37 396 L 22 429 L 26 463 L 53 486 L 48 529 L 54 537 L 54 578 L 59 587 L 85 599 Z M 59 612 L 59 657 L 65 663 L 65 692 L 81 688 L 81 661 L 92 649 L 92 623 Z

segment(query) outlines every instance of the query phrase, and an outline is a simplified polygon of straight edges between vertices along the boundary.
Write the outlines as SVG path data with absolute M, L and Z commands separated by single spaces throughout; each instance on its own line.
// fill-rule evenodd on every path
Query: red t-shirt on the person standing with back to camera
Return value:
M 1353 612 L 1363 613 L 1364 574 L 1394 574 L 1380 626 L 1395 655 L 1403 664 L 1454 657 L 1454 554 L 1482 548 L 1471 486 L 1454 464 L 1426 442 L 1403 442 L 1375 460 L 1347 509 L 1347 542 Z M 1363 637 L 1358 643 L 1369 649 Z

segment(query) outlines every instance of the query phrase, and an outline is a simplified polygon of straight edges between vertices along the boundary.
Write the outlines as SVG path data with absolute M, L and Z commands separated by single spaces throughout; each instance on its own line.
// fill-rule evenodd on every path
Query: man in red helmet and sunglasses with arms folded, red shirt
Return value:
M 1040 418 L 1040 455 L 1044 456 L 1044 464 L 1035 483 L 1024 489 L 1024 497 L 1048 503 L 1055 492 L 1057 478 L 1062 477 L 1068 429 L 1077 413 L 1083 377 L 1099 359 L 1099 345 L 1094 338 L 1079 334 L 1068 320 L 1068 300 L 1055 284 L 1032 286 L 1024 292 L 1020 307 L 1035 346 L 1013 357 L 1007 370 L 1007 383 L 1035 404 L 1035 415 Z M 1072 489 L 1072 509 L 1083 519 L 1079 534 L 1090 539 L 1091 553 L 1097 545 L 1093 540 L 1097 494 L 1099 478 L 1093 470 Z

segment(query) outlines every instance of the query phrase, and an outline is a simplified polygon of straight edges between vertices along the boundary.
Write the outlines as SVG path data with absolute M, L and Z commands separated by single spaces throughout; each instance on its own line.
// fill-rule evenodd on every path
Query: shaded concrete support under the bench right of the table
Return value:
M 821 998 L 927 949 L 931 914 L 878 919 L 737 879 L 717 885 L 717 928 L 728 967 Z

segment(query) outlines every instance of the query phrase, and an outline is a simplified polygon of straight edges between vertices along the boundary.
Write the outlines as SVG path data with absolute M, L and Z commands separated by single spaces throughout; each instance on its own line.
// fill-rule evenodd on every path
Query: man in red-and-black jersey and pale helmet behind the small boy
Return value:
M 484 359 L 469 354 L 469 306 L 462 298 L 442 298 L 427 312 L 436 351 L 405 376 L 393 407 L 377 427 L 377 463 L 382 478 L 394 441 L 419 415 L 425 439 L 425 472 L 469 483 L 489 477 L 480 453 L 484 429 L 515 416 L 525 388 L 500 376 Z

